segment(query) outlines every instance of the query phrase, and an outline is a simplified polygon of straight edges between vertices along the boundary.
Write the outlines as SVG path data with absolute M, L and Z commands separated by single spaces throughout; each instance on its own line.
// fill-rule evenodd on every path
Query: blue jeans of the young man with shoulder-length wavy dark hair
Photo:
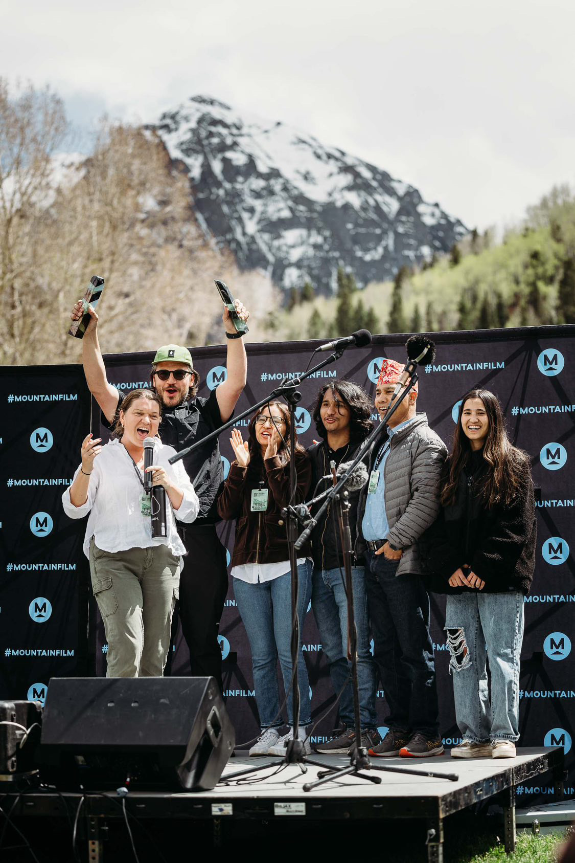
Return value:
M 352 567 L 353 614 L 357 633 L 359 720 L 361 728 L 376 728 L 375 665 L 369 650 L 366 570 Z M 349 681 L 351 662 L 347 660 L 347 595 L 341 570 L 314 570 L 311 608 L 329 665 L 335 694 L 341 690 L 340 719 L 353 728 L 353 690 Z M 345 687 L 345 689 L 344 689 Z

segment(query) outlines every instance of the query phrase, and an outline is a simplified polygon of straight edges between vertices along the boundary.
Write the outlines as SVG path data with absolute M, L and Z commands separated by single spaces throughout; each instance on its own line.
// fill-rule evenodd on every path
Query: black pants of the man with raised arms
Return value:
M 226 550 L 213 525 L 186 525 L 184 570 L 179 579 L 179 619 L 190 650 L 192 677 L 215 677 L 222 690 L 222 650 L 217 640 L 228 593 Z

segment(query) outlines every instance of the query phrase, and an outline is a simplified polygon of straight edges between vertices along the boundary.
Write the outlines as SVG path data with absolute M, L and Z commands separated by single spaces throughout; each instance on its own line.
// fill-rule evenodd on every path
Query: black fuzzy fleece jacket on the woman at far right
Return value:
M 484 581 L 488 593 L 529 592 L 537 536 L 530 471 L 526 466 L 515 501 L 488 509 L 478 498 L 487 469 L 483 450 L 474 452 L 471 464 L 459 476 L 455 502 L 441 508 L 438 520 L 425 535 L 430 568 L 434 570 L 428 587 L 435 593 L 467 593 L 470 588 L 448 584 L 453 572 L 464 564 Z

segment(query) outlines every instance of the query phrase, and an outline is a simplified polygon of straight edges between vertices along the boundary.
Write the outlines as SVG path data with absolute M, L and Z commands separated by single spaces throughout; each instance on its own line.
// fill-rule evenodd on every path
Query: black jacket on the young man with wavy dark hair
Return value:
M 329 471 L 329 462 L 335 462 L 336 467 L 339 467 L 341 462 L 350 462 L 356 451 L 358 450 L 361 440 L 350 441 L 346 446 L 340 447 L 339 450 L 330 450 L 326 440 L 320 441 L 319 444 L 313 444 L 308 449 L 308 455 L 311 459 L 313 473 L 311 481 L 311 491 L 315 496 L 321 494 L 329 486 L 333 484 L 332 480 L 320 481 L 322 476 L 326 476 Z M 367 463 L 367 456 L 365 459 Z M 315 490 L 317 487 L 317 491 Z M 353 491 L 349 494 L 349 526 L 352 534 L 352 548 L 355 545 L 357 535 L 357 520 L 358 520 L 358 501 L 359 491 Z M 313 513 L 322 506 L 322 503 L 316 504 Z M 328 508 L 317 523 L 314 531 L 311 534 L 312 553 L 314 558 L 314 569 L 316 570 L 335 570 L 343 566 L 343 555 L 341 554 L 341 539 L 340 531 L 337 525 L 337 515 L 334 512 L 333 504 L 329 504 Z M 353 555 L 353 558 L 355 556 Z M 352 564 L 355 564 L 353 559 Z M 363 565 L 363 562 L 362 562 Z

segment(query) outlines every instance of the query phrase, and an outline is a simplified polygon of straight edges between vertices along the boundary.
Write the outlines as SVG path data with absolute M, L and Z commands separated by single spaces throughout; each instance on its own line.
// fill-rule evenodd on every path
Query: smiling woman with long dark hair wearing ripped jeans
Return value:
M 463 741 L 453 758 L 511 758 L 519 738 L 523 598 L 536 524 L 528 454 L 510 443 L 497 396 L 466 393 L 430 529 L 436 592 L 447 592 L 447 646 Z M 487 662 L 491 672 L 491 699 Z

